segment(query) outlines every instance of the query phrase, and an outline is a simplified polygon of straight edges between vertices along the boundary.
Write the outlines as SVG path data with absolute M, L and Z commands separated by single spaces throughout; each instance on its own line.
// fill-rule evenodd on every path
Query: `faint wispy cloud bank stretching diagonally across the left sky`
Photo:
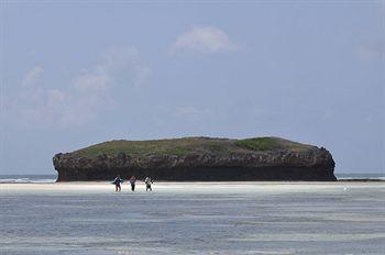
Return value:
M 18 114 L 26 126 L 82 126 L 106 112 L 114 95 L 144 86 L 150 68 L 134 48 L 112 49 L 89 70 L 84 70 L 62 89 L 38 84 L 44 69 L 34 67 L 22 80 L 23 89 L 14 100 Z M 34 86 L 31 86 L 34 85 Z

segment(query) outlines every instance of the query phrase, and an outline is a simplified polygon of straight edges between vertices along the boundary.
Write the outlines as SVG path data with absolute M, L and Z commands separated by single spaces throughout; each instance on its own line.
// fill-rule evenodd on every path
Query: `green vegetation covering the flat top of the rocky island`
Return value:
M 278 137 L 256 137 L 245 140 L 184 137 L 148 141 L 110 141 L 91 145 L 72 154 L 77 157 L 92 158 L 100 154 L 117 156 L 125 153 L 131 156 L 151 155 L 188 155 L 188 154 L 219 154 L 244 153 L 246 151 L 263 152 L 273 149 L 306 151 L 314 146 L 292 142 Z

